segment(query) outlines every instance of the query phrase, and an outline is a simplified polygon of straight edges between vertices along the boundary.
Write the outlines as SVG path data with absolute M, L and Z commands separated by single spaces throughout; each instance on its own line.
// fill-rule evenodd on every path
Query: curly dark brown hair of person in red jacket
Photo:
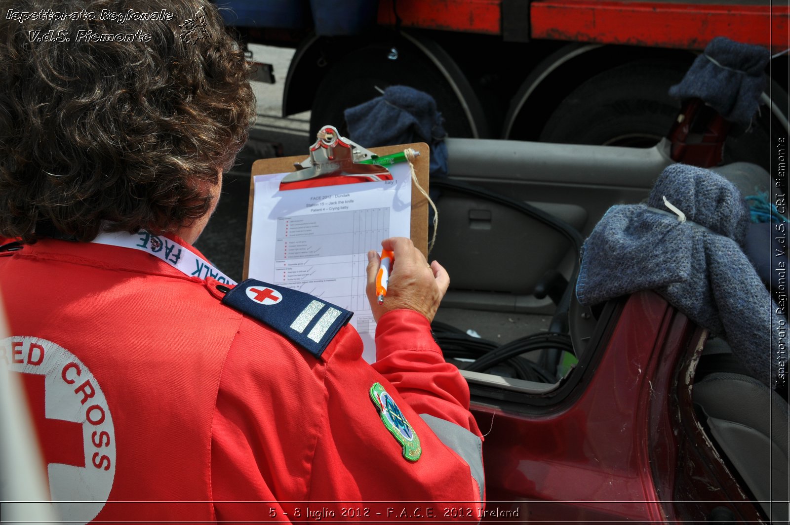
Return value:
M 170 20 L 141 20 L 163 9 Z M 32 242 L 48 225 L 89 241 L 104 221 L 161 234 L 208 212 L 255 113 L 212 4 L 16 0 L 2 14 L 0 236 Z

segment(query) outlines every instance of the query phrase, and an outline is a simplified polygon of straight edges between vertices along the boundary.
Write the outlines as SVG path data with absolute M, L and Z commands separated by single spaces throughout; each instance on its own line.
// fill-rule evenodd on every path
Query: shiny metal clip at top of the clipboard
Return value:
M 310 157 L 295 162 L 296 171 L 280 182 L 280 190 L 392 180 L 389 170 L 377 164 L 359 164 L 378 157 L 361 145 L 341 137 L 337 128 L 324 126 L 310 146 Z

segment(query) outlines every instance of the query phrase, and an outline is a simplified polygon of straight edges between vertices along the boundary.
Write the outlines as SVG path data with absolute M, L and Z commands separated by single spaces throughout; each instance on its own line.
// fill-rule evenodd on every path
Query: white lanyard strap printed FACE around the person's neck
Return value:
M 156 236 L 142 229 L 137 233 L 101 232 L 92 242 L 145 251 L 173 266 L 184 275 L 201 279 L 211 277 L 228 285 L 236 284 L 236 281 L 223 274 L 213 264 L 195 255 L 189 248 L 183 247 L 175 240 L 167 239 L 165 236 Z

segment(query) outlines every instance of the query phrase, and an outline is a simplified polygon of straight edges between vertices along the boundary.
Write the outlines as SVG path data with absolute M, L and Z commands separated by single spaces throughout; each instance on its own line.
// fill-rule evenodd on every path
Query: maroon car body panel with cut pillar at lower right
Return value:
M 705 331 L 655 293 L 609 310 L 592 355 L 555 402 L 494 409 L 472 387 L 485 434 L 486 520 L 675 523 L 724 508 L 760 521 L 694 415 Z

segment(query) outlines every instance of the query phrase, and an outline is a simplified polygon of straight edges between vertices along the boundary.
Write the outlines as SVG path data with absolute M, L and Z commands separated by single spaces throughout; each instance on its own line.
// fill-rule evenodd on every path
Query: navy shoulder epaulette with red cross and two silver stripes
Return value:
M 309 293 L 255 279 L 236 285 L 225 294 L 222 304 L 272 327 L 315 357 L 321 357 L 337 331 L 354 315 Z

